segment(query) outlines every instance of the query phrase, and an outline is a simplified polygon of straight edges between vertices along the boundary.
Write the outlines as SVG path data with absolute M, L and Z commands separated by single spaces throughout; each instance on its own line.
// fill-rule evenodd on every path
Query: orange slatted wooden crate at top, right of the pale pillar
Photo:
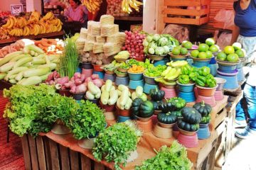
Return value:
M 193 6 L 195 9 L 187 9 Z M 210 0 L 164 0 L 164 23 L 200 26 L 209 20 Z

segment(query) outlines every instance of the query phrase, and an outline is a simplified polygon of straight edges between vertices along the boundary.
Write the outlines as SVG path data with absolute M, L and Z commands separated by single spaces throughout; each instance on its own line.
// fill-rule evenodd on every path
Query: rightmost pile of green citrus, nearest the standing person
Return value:
M 240 57 L 245 57 L 245 52 L 241 47 L 242 45 L 239 42 L 235 42 L 232 46 L 226 46 L 223 51 L 218 53 L 217 60 L 238 62 Z

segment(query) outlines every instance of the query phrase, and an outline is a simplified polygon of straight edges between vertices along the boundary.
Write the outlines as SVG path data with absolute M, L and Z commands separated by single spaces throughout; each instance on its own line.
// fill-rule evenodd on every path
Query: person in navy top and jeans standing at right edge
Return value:
M 249 123 L 247 124 L 241 101 L 236 106 L 235 135 L 242 139 L 256 137 L 256 0 L 239 0 L 234 2 L 235 29 L 231 44 L 240 42 L 247 52 L 246 62 L 250 63 L 249 77 L 243 92 L 247 102 Z

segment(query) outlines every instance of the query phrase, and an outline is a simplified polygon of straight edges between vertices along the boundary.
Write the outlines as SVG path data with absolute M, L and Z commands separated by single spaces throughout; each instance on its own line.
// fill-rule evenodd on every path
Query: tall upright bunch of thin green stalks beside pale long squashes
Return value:
M 58 65 L 60 77 L 73 77 L 78 65 L 79 60 L 76 44 L 72 39 L 67 38 L 65 40 L 65 50 L 63 55 L 60 56 L 60 64 Z

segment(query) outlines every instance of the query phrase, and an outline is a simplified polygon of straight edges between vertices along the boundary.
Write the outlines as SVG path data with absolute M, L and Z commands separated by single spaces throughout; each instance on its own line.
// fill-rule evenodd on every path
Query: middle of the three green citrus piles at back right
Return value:
M 206 43 L 201 43 L 198 45 L 197 50 L 191 52 L 191 57 L 199 59 L 207 59 L 213 57 L 213 53 L 218 52 L 220 47 L 215 45 L 215 40 L 213 38 L 206 39 Z

